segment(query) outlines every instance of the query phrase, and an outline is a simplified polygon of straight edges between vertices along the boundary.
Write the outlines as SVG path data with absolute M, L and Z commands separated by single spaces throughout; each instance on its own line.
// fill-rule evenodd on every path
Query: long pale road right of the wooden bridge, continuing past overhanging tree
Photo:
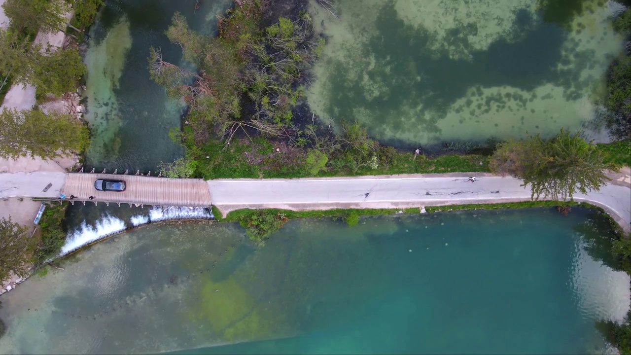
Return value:
M 213 205 L 223 214 L 239 208 L 406 208 L 463 203 L 516 202 L 530 199 L 521 180 L 463 174 L 322 179 L 222 179 L 208 181 Z M 574 195 L 606 208 L 631 229 L 631 189 L 608 184 L 588 196 Z

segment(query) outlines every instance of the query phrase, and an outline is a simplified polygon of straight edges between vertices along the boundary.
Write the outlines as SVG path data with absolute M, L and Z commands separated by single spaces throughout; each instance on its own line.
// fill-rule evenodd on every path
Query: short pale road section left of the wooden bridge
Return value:
M 57 198 L 65 181 L 63 172 L 4 172 L 0 174 L 0 198 Z

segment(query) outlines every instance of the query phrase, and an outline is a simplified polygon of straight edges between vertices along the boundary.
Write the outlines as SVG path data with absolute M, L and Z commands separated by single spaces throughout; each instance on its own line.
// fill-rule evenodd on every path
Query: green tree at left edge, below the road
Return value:
M 27 234 L 27 227 L 0 219 L 0 284 L 9 279 L 9 274 L 26 277 L 27 266 L 34 261 L 35 239 Z

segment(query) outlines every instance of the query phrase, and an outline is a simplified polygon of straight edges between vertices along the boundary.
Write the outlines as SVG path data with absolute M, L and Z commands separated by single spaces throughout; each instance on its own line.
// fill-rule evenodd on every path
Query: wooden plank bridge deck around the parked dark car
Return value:
M 98 191 L 96 179 L 115 179 L 126 182 L 126 191 Z M 208 184 L 203 179 L 168 179 L 154 176 L 69 173 L 61 188 L 75 201 L 134 203 L 138 205 L 210 207 Z

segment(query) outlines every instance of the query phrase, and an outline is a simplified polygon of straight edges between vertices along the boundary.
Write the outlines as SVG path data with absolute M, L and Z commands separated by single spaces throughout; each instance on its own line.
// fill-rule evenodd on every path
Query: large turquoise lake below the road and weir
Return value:
M 3 296 L 0 352 L 603 353 L 594 321 L 631 295 L 599 221 L 292 220 L 258 249 L 235 224 L 145 226 Z

